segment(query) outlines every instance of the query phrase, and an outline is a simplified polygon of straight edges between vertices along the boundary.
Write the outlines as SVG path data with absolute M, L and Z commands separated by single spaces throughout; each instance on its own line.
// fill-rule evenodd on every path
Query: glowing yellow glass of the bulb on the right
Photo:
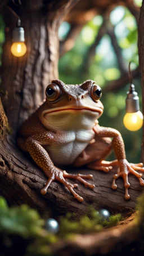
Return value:
M 137 111 L 136 113 L 126 113 L 123 122 L 124 126 L 129 131 L 138 131 L 143 124 L 143 115 L 141 111 Z

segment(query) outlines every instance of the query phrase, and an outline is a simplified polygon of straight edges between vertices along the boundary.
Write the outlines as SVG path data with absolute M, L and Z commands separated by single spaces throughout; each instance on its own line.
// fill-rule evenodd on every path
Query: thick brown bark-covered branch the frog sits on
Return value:
M 110 140 L 97 140 L 95 149 L 96 160 L 100 159 L 106 149 L 110 146 Z M 142 187 L 136 178 L 129 177 L 131 183 L 131 200 L 124 199 L 123 181 L 117 181 L 118 190 L 111 189 L 113 175 L 116 169 L 104 173 L 86 168 L 65 167 L 69 173 L 93 174 L 93 181 L 96 187 L 90 190 L 79 183 L 75 190 L 84 198 L 79 203 L 60 182 L 52 182 L 46 195 L 41 195 L 40 190 L 46 183 L 44 175 L 28 154 L 17 149 L 10 137 L 0 143 L 0 194 L 6 197 L 11 205 L 26 203 L 38 210 L 48 212 L 51 209 L 52 216 L 75 212 L 77 217 L 85 215 L 89 211 L 89 205 L 95 209 L 106 208 L 110 212 L 129 212 L 136 206 L 136 199 L 142 192 Z M 75 181 L 69 180 L 71 183 Z

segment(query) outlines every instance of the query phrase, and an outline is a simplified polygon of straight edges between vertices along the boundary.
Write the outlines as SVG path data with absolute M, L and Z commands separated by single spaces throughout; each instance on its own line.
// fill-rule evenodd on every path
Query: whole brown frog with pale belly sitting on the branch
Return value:
M 123 178 L 125 199 L 130 199 L 128 174 L 136 176 L 140 185 L 143 163 L 129 163 L 125 156 L 125 146 L 119 131 L 110 127 L 100 126 L 98 118 L 104 111 L 100 101 L 102 90 L 94 80 L 86 80 L 82 84 L 65 84 L 55 79 L 46 88 L 46 100 L 22 124 L 17 137 L 17 145 L 28 152 L 34 162 L 47 176 L 47 182 L 40 190 L 46 195 L 53 181 L 62 183 L 79 202 L 83 197 L 75 192 L 78 182 L 94 189 L 95 185 L 88 182 L 92 174 L 70 174 L 65 166 L 87 166 L 92 170 L 109 172 L 113 167 L 118 171 L 113 176 L 111 188 L 117 188 L 116 179 Z M 106 161 L 110 150 L 106 150 L 99 160 L 95 155 L 96 138 L 111 138 L 111 147 L 116 159 Z M 73 179 L 76 183 L 68 182 Z

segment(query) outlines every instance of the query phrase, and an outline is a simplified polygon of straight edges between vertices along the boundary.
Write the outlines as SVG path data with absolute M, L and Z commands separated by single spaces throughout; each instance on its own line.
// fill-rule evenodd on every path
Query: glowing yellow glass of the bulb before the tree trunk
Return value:
M 11 46 L 11 53 L 16 57 L 24 56 L 26 53 L 26 45 L 24 42 L 14 42 Z

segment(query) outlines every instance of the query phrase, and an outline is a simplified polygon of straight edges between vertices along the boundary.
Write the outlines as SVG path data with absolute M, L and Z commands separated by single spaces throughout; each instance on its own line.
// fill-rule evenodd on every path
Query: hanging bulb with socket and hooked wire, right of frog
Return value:
M 131 62 L 129 63 L 129 76 L 131 81 L 131 86 L 129 87 L 129 92 L 127 92 L 126 98 L 126 114 L 124 116 L 123 122 L 125 128 L 129 131 L 138 131 L 143 124 L 143 115 L 140 111 L 140 104 L 137 92 L 135 91 L 134 84 L 132 84 L 132 73 L 130 69 Z

